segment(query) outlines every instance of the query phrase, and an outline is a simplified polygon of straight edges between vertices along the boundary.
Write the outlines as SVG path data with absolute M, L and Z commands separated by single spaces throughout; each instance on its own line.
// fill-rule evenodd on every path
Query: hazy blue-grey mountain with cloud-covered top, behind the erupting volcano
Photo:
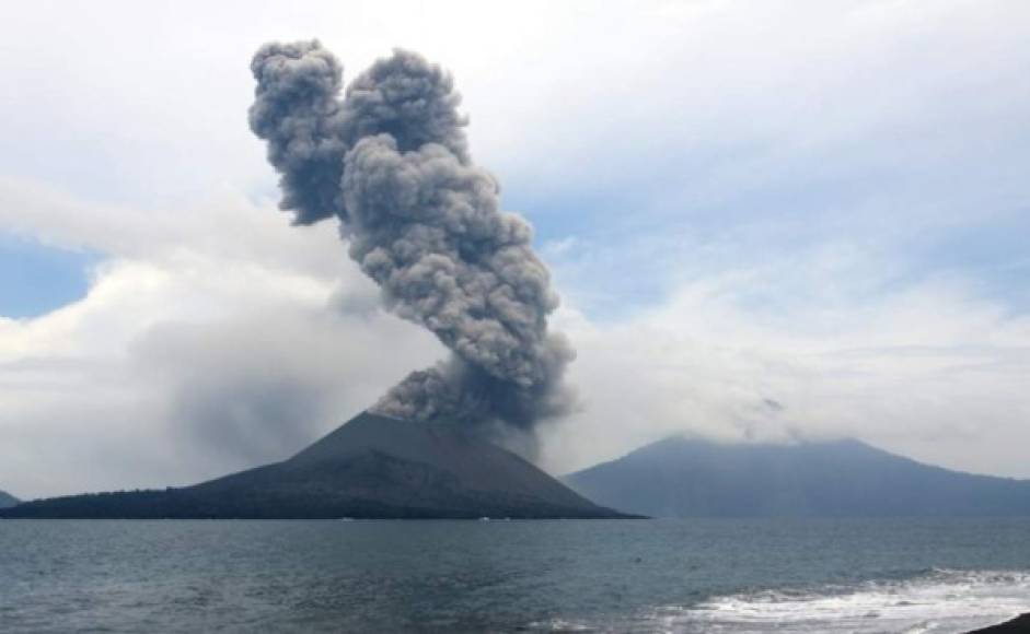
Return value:
M 1030 481 L 929 467 L 858 441 L 669 438 L 564 480 L 599 504 L 656 517 L 1030 515 Z

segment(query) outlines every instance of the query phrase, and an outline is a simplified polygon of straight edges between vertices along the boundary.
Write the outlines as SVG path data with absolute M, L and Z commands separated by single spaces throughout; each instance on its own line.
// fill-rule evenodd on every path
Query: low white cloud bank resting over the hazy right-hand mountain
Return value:
M 680 282 L 614 321 L 564 310 L 586 407 L 547 430 L 545 463 L 581 468 L 673 433 L 859 437 L 952 468 L 1030 477 L 1030 317 L 948 280 L 855 302 L 854 289 L 878 286 L 883 271 L 848 262 L 834 269 L 799 254 Z M 834 274 L 837 289 L 818 279 Z M 769 300 L 756 303 L 756 293 Z

